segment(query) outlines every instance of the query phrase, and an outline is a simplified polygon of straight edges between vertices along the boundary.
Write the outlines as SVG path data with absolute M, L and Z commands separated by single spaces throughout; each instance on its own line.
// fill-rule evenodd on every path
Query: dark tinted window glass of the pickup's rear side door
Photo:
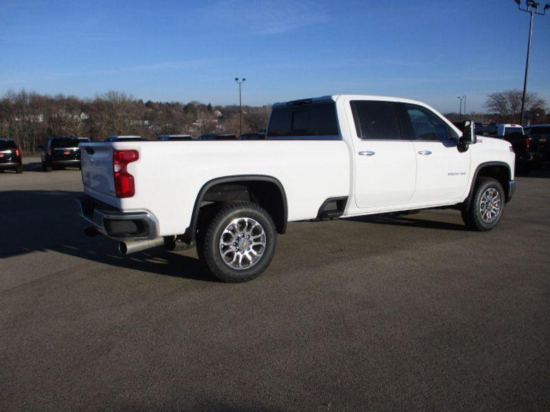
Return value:
M 401 139 L 393 102 L 353 100 L 350 102 L 355 130 L 360 139 Z

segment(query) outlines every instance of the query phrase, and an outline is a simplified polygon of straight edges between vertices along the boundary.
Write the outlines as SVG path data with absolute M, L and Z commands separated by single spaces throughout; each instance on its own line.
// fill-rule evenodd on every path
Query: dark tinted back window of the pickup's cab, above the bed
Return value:
M 340 139 L 334 102 L 274 107 L 267 139 Z

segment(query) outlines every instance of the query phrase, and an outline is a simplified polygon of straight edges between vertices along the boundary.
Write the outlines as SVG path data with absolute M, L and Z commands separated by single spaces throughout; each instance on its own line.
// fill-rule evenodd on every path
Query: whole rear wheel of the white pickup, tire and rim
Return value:
M 275 224 L 262 207 L 225 203 L 199 226 L 201 262 L 223 282 L 246 282 L 269 266 L 277 246 Z

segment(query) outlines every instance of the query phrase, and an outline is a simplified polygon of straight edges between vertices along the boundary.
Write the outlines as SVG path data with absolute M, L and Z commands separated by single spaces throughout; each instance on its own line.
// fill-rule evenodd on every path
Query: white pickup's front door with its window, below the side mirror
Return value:
M 462 201 L 470 179 L 470 150 L 459 151 L 458 136 L 436 113 L 415 104 L 399 104 L 404 135 L 417 159 L 411 203 Z

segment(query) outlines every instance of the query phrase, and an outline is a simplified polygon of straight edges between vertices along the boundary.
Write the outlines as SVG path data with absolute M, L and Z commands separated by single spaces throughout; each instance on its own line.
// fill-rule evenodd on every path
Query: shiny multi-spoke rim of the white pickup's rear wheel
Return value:
M 226 265 L 243 271 L 261 260 L 266 244 L 265 231 L 259 222 L 236 218 L 221 233 L 219 253 Z

